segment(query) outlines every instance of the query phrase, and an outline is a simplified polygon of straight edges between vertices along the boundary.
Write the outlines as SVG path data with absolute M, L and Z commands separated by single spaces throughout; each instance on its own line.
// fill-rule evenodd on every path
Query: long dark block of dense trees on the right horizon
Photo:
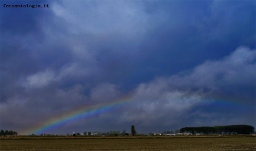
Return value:
M 251 134 L 254 132 L 253 126 L 248 125 L 230 125 L 230 126 L 214 126 L 214 127 L 183 127 L 180 129 L 181 133 L 189 133 L 192 135 L 238 135 Z

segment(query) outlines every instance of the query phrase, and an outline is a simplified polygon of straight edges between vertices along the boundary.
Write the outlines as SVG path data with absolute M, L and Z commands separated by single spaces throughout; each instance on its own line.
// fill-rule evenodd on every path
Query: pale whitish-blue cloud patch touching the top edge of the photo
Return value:
M 63 1 L 53 3 L 52 11 L 72 25 L 71 31 L 76 33 L 134 34 L 143 31 L 138 25 L 146 23 L 147 19 L 140 5 L 128 1 Z

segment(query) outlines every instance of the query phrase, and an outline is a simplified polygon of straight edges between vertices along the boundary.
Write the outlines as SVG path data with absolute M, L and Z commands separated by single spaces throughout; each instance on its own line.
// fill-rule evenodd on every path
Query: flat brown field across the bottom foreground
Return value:
M 256 138 L 0 139 L 0 150 L 256 150 Z

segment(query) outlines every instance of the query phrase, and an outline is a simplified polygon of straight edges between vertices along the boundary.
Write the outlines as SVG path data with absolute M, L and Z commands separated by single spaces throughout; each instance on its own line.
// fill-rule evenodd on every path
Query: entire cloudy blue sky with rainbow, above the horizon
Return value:
M 0 128 L 255 127 L 255 3 L 1 1 Z

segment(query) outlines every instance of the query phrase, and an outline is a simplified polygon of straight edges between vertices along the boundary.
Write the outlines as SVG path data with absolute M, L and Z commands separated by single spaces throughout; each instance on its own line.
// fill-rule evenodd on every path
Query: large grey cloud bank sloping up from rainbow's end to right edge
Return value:
M 209 106 L 218 100 L 227 99 L 231 103 L 246 102 L 255 105 L 255 67 L 255 50 L 240 47 L 228 57 L 206 61 L 191 71 L 139 84 L 121 119 L 141 126 L 157 125 L 157 122 L 171 126 L 187 117 L 195 118 L 200 123 L 203 120 L 199 117 L 206 111 L 200 111 L 200 116 L 197 116 L 194 113 L 197 112 L 194 111 L 197 106 Z M 237 87 L 254 91 L 241 92 Z M 246 98 L 249 100 L 245 100 Z M 221 115 L 214 114 L 214 110 L 207 112 L 211 117 L 207 120 L 217 120 Z M 236 116 L 242 118 L 242 114 L 238 113 Z M 225 120 L 229 121 L 226 117 Z

